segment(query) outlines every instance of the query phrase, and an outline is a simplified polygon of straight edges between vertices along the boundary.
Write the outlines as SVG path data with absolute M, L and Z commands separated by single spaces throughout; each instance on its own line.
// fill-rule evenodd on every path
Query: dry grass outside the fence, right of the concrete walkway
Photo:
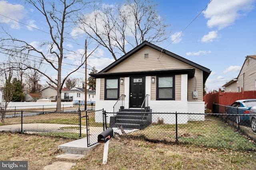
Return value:
M 73 170 L 249 170 L 256 154 L 203 147 L 150 143 L 143 140 L 111 139 L 108 162 L 102 164 L 104 145 L 98 145 Z

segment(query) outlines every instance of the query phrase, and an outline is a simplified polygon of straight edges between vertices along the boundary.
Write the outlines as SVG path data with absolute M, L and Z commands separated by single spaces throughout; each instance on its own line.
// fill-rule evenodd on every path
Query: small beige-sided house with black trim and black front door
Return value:
M 121 95 L 126 96 L 124 108 L 140 109 L 149 95 L 152 113 L 204 113 L 203 85 L 210 72 L 204 66 L 144 41 L 100 72 L 90 74 L 96 78 L 95 110 L 104 108 L 113 112 Z M 181 123 L 189 119 L 204 120 L 204 116 L 195 118 L 188 114 Z M 153 116 L 152 122 L 157 122 Z

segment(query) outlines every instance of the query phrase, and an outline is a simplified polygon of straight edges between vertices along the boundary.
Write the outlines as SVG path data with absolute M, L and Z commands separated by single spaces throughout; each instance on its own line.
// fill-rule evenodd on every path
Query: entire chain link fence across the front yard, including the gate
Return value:
M 86 137 L 88 147 L 98 135 L 112 127 L 114 136 L 145 139 L 151 142 L 179 143 L 215 149 L 255 150 L 256 133 L 250 117 L 228 113 L 227 106 L 215 106 L 214 113 L 106 113 L 104 110 L 82 112 L 6 111 L 0 131 L 29 133 L 79 139 Z M 238 111 L 239 113 L 239 111 Z M 0 111 L 3 115 L 3 111 Z M 256 114 L 255 114 L 256 115 Z M 249 116 L 236 122 L 234 116 Z M 2 117 L 1 117 L 2 118 Z M 248 117 L 247 117 L 248 118 Z

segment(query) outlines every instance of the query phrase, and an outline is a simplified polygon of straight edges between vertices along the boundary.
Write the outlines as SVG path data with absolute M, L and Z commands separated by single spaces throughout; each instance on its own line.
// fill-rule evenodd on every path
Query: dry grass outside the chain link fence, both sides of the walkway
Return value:
M 70 139 L 0 133 L 0 160 L 26 160 L 30 170 L 42 170 L 57 161 L 76 162 L 72 170 L 194 170 L 256 167 L 256 153 L 234 152 L 188 145 L 151 143 L 129 138 L 110 139 L 108 162 L 102 164 L 104 144 L 80 160 L 59 160 L 58 145 Z

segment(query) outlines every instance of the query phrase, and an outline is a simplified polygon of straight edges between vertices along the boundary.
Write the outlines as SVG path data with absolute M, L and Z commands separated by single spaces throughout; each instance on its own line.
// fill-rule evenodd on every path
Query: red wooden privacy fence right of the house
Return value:
M 204 102 L 207 108 L 212 110 L 212 104 L 231 105 L 236 100 L 256 99 L 256 90 L 241 92 L 210 92 L 204 95 Z

